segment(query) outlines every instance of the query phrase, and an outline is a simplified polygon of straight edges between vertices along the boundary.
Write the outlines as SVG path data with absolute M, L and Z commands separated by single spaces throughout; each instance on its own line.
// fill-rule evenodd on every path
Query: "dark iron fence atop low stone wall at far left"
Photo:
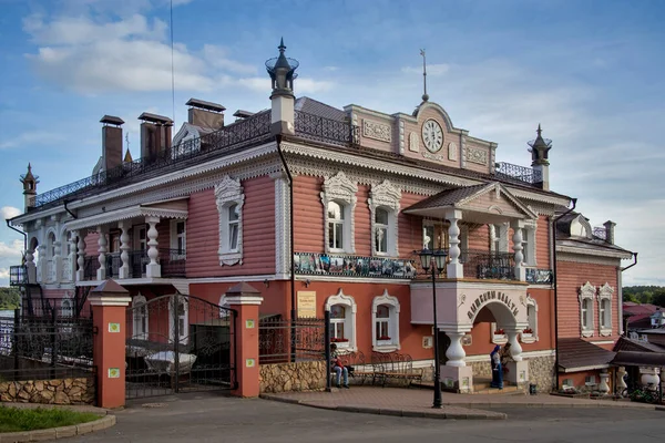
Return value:
M 0 319 L 0 377 L 6 381 L 93 377 L 92 318 L 23 316 Z

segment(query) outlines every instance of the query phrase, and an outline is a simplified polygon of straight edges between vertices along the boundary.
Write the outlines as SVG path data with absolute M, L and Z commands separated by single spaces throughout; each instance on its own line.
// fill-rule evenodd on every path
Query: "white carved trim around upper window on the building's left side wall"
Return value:
M 233 179 L 226 175 L 222 183 L 215 186 L 215 203 L 219 214 L 219 266 L 243 264 L 243 205 L 245 194 L 239 179 Z M 228 245 L 228 207 L 238 205 L 238 239 L 236 249 Z

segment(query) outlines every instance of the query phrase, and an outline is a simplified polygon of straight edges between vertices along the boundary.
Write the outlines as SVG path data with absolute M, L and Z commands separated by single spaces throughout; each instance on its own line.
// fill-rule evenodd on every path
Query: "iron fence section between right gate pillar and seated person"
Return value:
M 262 319 L 258 323 L 258 361 L 260 364 L 323 361 L 326 359 L 325 336 L 325 319 Z

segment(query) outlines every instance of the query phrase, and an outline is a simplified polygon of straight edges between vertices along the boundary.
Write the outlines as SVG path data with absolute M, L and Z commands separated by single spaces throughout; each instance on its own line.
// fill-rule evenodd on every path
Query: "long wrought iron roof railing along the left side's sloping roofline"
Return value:
M 270 111 L 264 111 L 200 138 L 182 142 L 152 157 L 123 163 L 112 169 L 39 194 L 33 197 L 32 206 L 35 208 L 52 206 L 73 197 L 82 198 L 125 186 L 163 174 L 165 168 L 182 169 L 218 157 L 233 148 L 266 141 L 269 137 Z

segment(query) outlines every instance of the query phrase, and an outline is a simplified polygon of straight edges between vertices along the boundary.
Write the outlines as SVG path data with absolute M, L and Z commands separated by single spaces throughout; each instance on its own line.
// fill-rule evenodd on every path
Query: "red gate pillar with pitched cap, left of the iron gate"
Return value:
M 93 363 L 96 367 L 96 395 L 100 408 L 125 404 L 125 334 L 126 307 L 130 292 L 113 280 L 106 280 L 88 297 L 92 321 L 96 328 L 93 340 Z

